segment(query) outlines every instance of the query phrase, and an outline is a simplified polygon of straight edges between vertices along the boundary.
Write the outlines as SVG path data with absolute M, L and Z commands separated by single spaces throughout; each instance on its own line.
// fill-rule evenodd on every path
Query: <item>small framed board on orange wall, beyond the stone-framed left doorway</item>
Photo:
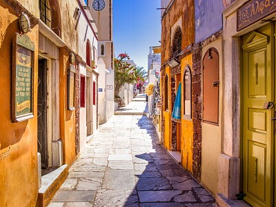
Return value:
M 67 108 L 68 108 L 68 110 L 75 110 L 75 79 L 76 79 L 75 66 L 70 66 L 70 68 L 68 69 L 68 78 L 67 78 Z

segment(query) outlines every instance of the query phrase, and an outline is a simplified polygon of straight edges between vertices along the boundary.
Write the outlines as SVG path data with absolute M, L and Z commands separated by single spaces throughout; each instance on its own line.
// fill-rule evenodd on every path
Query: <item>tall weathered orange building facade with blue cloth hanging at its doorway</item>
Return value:
M 177 161 L 193 171 L 192 72 L 195 41 L 194 1 L 161 1 L 161 140 Z M 179 83 L 182 83 L 179 85 Z M 186 85 L 185 85 L 185 84 Z M 172 120 L 181 86 L 181 118 Z M 185 99 L 184 99 L 185 96 Z

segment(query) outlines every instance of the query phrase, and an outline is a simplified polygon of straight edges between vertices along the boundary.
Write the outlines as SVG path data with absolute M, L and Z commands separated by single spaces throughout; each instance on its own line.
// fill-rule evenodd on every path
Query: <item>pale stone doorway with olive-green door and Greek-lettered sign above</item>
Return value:
M 252 206 L 275 206 L 276 5 L 229 3 L 223 11 L 224 130 L 218 190 L 230 198 L 242 192 Z

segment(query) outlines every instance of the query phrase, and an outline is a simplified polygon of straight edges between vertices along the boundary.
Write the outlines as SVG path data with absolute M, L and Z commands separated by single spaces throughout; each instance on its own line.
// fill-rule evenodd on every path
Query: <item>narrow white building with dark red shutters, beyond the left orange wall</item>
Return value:
M 86 5 L 84 0 L 81 3 L 83 6 Z M 78 12 L 78 54 L 82 60 L 86 60 L 79 64 L 79 151 L 82 152 L 86 141 L 99 127 L 97 100 L 99 69 L 97 28 L 90 23 L 92 17 L 89 10 L 81 8 Z

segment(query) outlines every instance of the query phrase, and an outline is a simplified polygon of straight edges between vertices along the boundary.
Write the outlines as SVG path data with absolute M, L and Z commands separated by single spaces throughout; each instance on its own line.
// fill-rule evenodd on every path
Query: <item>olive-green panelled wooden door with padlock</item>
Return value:
M 274 68 L 272 24 L 243 37 L 243 190 L 253 206 L 273 206 Z M 273 102 L 265 106 L 265 103 Z M 270 109 L 266 109 L 270 108 Z

